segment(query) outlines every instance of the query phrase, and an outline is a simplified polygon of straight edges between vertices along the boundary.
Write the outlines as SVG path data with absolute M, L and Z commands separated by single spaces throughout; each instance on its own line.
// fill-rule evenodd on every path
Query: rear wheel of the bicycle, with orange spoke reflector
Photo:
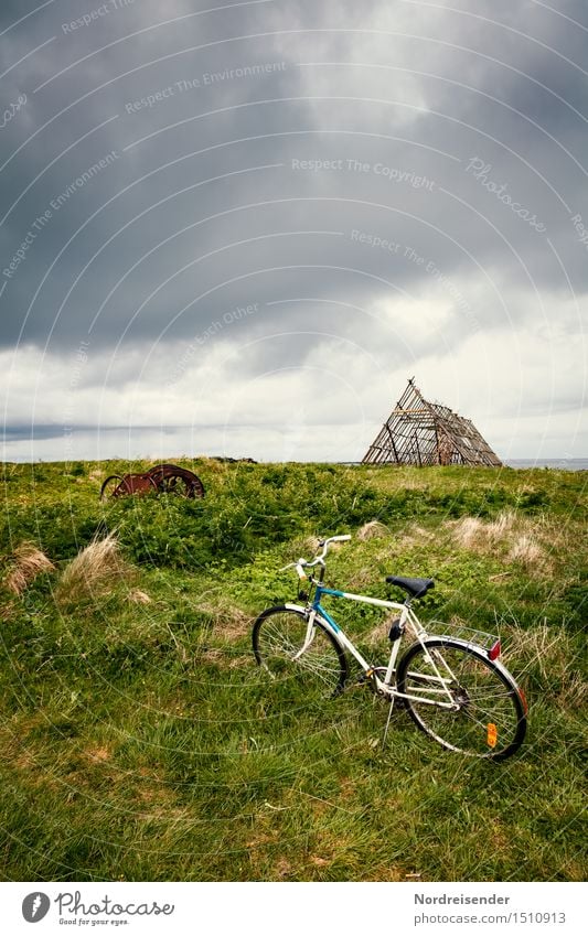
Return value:
M 414 644 L 398 666 L 397 687 L 410 697 L 410 718 L 450 751 L 502 761 L 523 742 L 524 697 L 479 647 L 447 637 Z

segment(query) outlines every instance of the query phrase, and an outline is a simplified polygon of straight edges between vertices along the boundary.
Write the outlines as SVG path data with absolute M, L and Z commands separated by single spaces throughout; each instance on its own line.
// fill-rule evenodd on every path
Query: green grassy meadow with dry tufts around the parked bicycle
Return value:
M 3 878 L 582 880 L 585 474 L 181 463 L 203 501 L 100 504 L 139 463 L 4 465 Z M 255 666 L 252 618 L 296 599 L 280 567 L 373 519 L 329 582 L 386 596 L 386 574 L 430 574 L 425 620 L 500 631 L 531 707 L 504 764 L 445 752 L 403 711 L 383 753 L 367 688 L 318 709 Z M 67 563 L 107 532 L 124 571 L 68 594 Z M 23 541 L 56 570 L 18 595 Z M 381 613 L 333 611 L 383 661 Z

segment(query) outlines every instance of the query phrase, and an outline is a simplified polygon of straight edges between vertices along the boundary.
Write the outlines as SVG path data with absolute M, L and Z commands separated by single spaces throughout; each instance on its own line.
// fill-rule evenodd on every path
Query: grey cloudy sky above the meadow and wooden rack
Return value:
M 6 459 L 588 455 L 588 8 L 0 10 Z

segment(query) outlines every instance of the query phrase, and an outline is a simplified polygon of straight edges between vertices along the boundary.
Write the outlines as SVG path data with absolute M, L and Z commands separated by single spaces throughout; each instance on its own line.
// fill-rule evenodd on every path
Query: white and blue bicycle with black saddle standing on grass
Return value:
M 500 638 L 463 627 L 458 636 L 443 633 L 443 628 L 450 630 L 448 625 L 442 625 L 440 634 L 429 633 L 411 603 L 435 588 L 432 579 L 388 575 L 386 582 L 406 592 L 402 604 L 327 588 L 323 580 L 329 547 L 350 539 L 345 535 L 321 540 L 322 551 L 311 561 L 298 559 L 285 567 L 296 568 L 298 596 L 304 604 L 268 607 L 257 617 L 253 627 L 257 664 L 272 679 L 301 677 L 308 690 L 318 691 L 322 704 L 324 698 L 335 697 L 345 688 L 351 655 L 360 666 L 360 681 L 368 681 L 378 696 L 389 700 L 383 743 L 394 702 L 402 700 L 418 728 L 449 751 L 492 761 L 510 757 L 523 743 L 527 704 L 523 690 L 498 659 Z M 317 566 L 320 571 L 314 575 L 310 570 Z M 301 590 L 301 583 L 308 591 Z M 362 656 L 322 606 L 323 595 L 398 613 L 389 625 L 387 665 L 375 666 Z M 398 659 L 407 632 L 416 639 Z

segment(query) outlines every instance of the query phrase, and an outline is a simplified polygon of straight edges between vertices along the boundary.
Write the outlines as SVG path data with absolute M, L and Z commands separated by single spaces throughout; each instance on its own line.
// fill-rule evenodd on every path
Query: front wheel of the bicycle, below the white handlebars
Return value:
M 310 639 L 309 639 L 310 637 Z M 308 616 L 290 607 L 269 607 L 253 628 L 253 649 L 272 679 L 296 679 L 320 698 L 336 696 L 348 678 L 341 645 L 320 620 L 308 634 Z

